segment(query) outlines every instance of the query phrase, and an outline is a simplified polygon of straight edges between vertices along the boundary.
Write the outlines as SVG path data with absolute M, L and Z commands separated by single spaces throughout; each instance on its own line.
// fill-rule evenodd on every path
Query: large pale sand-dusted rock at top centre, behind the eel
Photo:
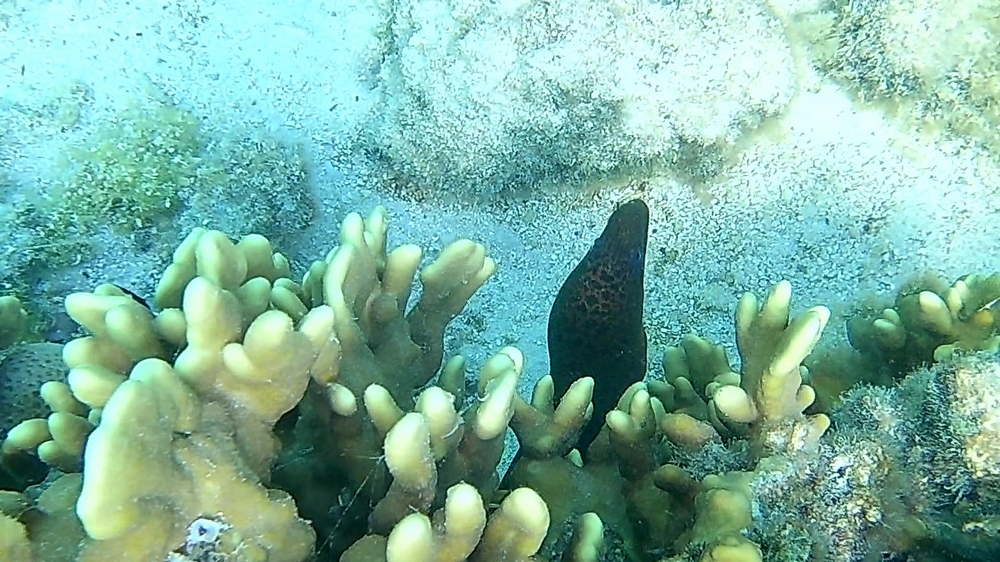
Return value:
M 488 198 L 651 168 L 712 176 L 795 88 L 764 2 L 382 4 L 363 140 L 411 189 Z

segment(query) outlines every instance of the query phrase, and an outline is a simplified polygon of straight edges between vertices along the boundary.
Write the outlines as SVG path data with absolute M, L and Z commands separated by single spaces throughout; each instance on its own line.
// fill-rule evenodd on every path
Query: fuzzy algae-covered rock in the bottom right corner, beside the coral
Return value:
M 851 495 L 869 498 L 877 523 L 869 525 L 869 545 L 921 560 L 1000 556 L 998 415 L 994 353 L 952 357 L 894 388 L 863 386 L 845 397 L 832 415 L 839 437 L 831 445 L 841 460 L 829 466 L 837 469 L 832 476 L 854 472 L 857 480 L 845 482 L 855 489 Z

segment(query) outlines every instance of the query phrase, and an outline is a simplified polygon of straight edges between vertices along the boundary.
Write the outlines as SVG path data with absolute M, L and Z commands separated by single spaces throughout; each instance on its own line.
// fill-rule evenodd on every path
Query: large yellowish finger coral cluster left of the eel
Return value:
M 220 232 L 196 229 L 161 278 L 159 312 L 111 285 L 67 298 L 67 311 L 88 335 L 63 351 L 66 381 L 43 391 L 55 413 L 23 422 L 4 450 L 35 451 L 68 471 L 82 466 L 75 512 L 86 538 L 79 559 L 163 558 L 183 543 L 193 521 L 214 514 L 244 554 L 309 556 L 313 528 L 290 496 L 267 487 L 280 446 L 274 425 L 311 384 L 338 415 L 357 411 L 350 389 L 360 395 L 378 381 L 390 396 L 373 397 L 372 404 L 413 405 L 410 390 L 437 371 L 445 325 L 494 267 L 481 245 L 449 246 L 424 270 L 426 297 L 409 325 L 394 321 L 386 305 L 405 310 L 420 252 L 408 246 L 386 254 L 381 210 L 367 226 L 350 215 L 342 244 L 301 284 L 266 239 L 233 243 Z M 381 298 L 368 301 L 363 291 L 383 272 Z M 362 327 L 350 309 L 364 304 L 373 308 Z M 363 330 L 385 327 L 409 346 L 382 340 L 374 343 L 389 355 L 359 355 L 381 335 Z M 419 378 L 401 385 L 390 375 L 404 359 Z M 380 368 L 368 369 L 373 366 Z M 432 417 L 438 411 L 427 409 Z M 502 450 L 502 439 L 493 439 Z

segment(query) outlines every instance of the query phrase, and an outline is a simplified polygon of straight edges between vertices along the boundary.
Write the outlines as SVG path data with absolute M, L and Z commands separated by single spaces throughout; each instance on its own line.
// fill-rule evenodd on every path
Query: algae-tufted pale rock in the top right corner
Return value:
M 803 18 L 820 66 L 905 129 L 1000 154 L 1000 2 L 836 0 Z

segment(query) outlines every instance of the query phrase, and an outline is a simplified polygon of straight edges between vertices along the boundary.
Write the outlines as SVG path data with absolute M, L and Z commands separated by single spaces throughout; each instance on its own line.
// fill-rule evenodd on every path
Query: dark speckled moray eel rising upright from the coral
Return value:
M 618 207 L 549 312 L 556 396 L 580 377 L 594 378 L 594 415 L 577 441 L 583 455 L 622 392 L 646 376 L 642 301 L 648 229 L 649 208 L 642 200 Z

